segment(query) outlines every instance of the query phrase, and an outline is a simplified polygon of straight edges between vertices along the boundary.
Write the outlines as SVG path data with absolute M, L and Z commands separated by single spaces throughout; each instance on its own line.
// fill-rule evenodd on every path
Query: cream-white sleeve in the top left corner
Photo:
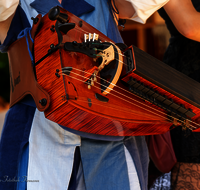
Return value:
M 0 0 L 0 22 L 11 16 L 19 4 L 19 0 Z

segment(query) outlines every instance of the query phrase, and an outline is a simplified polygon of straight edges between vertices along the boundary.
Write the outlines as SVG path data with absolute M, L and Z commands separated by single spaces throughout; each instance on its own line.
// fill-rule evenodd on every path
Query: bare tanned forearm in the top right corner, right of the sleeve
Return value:
M 170 0 L 164 9 L 183 36 L 200 42 L 200 13 L 191 0 Z

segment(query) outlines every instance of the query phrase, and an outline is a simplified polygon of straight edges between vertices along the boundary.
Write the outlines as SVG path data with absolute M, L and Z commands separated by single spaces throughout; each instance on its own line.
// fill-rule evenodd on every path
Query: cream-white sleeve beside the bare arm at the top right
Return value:
M 146 20 L 169 0 L 126 0 L 132 4 L 135 14 L 130 18 L 145 24 Z

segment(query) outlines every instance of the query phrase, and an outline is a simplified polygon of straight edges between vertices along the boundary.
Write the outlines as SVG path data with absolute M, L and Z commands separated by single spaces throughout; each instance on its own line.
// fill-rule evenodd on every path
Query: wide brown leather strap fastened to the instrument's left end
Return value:
M 34 19 L 31 36 L 34 39 L 40 24 L 41 15 Z M 33 43 L 29 40 L 30 50 Z M 37 83 L 31 58 L 29 56 L 26 37 L 14 42 L 8 49 L 10 67 L 10 106 L 13 106 L 30 94 L 39 111 L 45 111 L 50 105 L 49 94 Z

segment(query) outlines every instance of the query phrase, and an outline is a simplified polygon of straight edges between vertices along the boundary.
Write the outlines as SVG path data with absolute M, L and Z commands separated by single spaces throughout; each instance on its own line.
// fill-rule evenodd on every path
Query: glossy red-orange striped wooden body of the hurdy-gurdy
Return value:
M 85 76 L 99 65 L 92 57 L 80 52 L 66 51 L 62 45 L 73 41 L 82 43 L 84 34 L 88 33 L 97 33 L 102 43 L 113 42 L 70 12 L 62 12 L 68 15 L 69 23 L 75 23 L 75 28 L 67 34 L 62 33 L 60 48 L 43 59 L 50 46 L 59 43 L 57 33 L 51 29 L 56 21 L 49 20 L 47 15 L 42 18 L 41 29 L 34 43 L 35 62 L 38 63 L 35 65 L 37 81 L 51 98 L 51 104 L 45 111 L 46 118 L 62 126 L 100 135 L 138 136 L 167 132 L 172 126 L 167 111 L 130 93 L 121 80 L 104 95 L 98 73 L 94 86 L 88 89 Z M 117 55 L 119 54 L 118 52 Z M 63 72 L 63 68 L 69 67 L 72 68 L 70 71 Z M 133 74 L 132 72 L 121 77 L 127 82 Z M 188 107 L 194 108 L 191 105 Z

